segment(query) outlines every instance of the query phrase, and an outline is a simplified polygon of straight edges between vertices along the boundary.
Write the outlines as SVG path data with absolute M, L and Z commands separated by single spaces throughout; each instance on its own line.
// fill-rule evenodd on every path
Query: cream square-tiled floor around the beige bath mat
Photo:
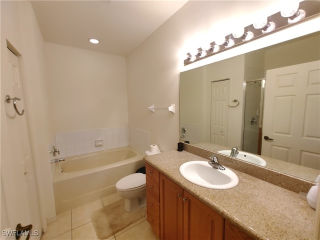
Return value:
M 91 213 L 107 204 L 120 199 L 117 193 L 104 197 L 102 199 L 90 202 L 83 206 L 72 208 L 71 210 L 59 213 L 56 221 L 48 224 L 47 231 L 42 234 L 41 240 L 94 240 L 98 239 L 93 224 L 91 222 Z M 125 229 L 117 232 L 108 238 L 110 240 L 133 240 L 146 239 L 158 240 L 151 226 L 143 218 Z

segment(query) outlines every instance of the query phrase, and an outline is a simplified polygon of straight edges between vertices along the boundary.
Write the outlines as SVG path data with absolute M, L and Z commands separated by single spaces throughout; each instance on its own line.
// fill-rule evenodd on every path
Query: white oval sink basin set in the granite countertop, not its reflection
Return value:
M 187 161 L 180 165 L 179 171 L 188 181 L 211 189 L 228 189 L 239 182 L 237 175 L 230 169 L 216 169 L 207 161 Z

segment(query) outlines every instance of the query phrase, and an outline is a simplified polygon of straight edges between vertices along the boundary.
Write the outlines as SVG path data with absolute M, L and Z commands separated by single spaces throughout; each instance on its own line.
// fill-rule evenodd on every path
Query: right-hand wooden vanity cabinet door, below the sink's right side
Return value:
M 195 198 L 183 192 L 183 239 L 223 239 L 223 217 Z

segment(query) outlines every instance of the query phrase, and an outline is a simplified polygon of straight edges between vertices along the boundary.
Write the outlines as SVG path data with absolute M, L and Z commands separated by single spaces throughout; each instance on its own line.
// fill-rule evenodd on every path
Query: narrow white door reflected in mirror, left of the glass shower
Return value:
M 211 83 L 210 142 L 227 145 L 229 80 Z

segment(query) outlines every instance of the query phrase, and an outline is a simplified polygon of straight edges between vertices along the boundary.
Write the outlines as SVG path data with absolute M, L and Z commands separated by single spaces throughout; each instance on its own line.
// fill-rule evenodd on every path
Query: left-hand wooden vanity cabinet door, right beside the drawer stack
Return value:
M 160 237 L 183 239 L 183 189 L 160 173 Z

